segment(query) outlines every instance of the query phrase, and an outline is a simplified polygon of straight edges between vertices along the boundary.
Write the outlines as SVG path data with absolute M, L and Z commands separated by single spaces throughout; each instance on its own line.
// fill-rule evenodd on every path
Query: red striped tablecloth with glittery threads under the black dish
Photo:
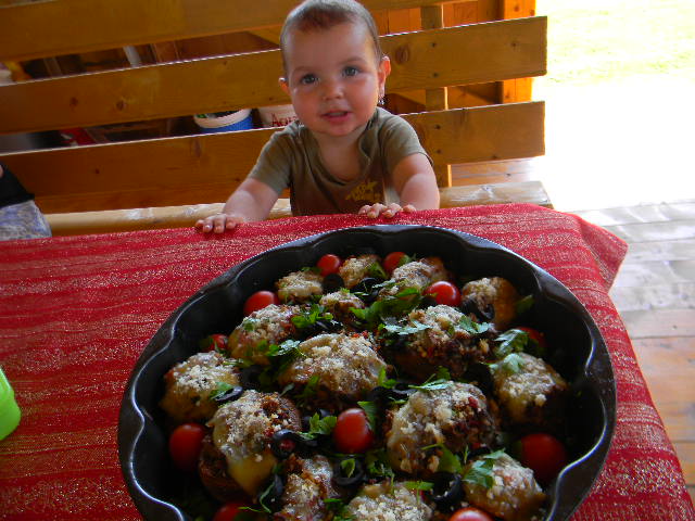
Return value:
M 383 223 L 383 221 L 378 221 Z M 572 518 L 693 520 L 683 474 L 607 289 L 626 244 L 532 205 L 420 212 L 501 243 L 564 282 L 609 346 L 618 423 L 606 466 Z M 0 519 L 139 519 L 118 467 L 116 424 L 130 369 L 169 313 L 230 266 L 356 216 L 244 225 L 223 237 L 155 230 L 0 244 L 0 365 L 23 418 L 0 442 Z

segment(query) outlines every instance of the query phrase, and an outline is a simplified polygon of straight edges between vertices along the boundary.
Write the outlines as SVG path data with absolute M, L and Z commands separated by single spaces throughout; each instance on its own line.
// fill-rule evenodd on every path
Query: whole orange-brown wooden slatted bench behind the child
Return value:
M 482 1 L 482 0 L 480 0 Z M 496 1 L 496 0 L 495 0 Z M 502 1 L 502 0 L 500 0 Z M 160 45 L 235 31 L 277 40 L 296 1 L 61 0 L 0 8 L 0 61 Z M 444 27 L 448 4 L 365 0 L 383 30 L 394 9 L 419 14 L 421 30 L 381 37 L 391 58 L 387 96 L 435 163 L 442 206 L 531 202 L 549 206 L 538 181 L 452 187 L 451 165 L 544 153 L 542 102 L 452 107 L 462 86 L 545 73 L 546 18 Z M 466 2 L 459 2 L 466 3 Z M 388 25 L 388 24 L 387 24 Z M 388 28 L 387 28 L 388 30 Z M 386 30 L 384 30 L 386 31 Z M 190 41 L 190 40 L 188 40 Z M 0 134 L 150 122 L 285 104 L 277 49 L 228 53 L 0 86 Z M 460 98 L 460 96 L 459 96 Z M 502 100 L 501 100 L 502 101 Z M 418 104 L 419 103 L 419 104 Z M 403 103 L 401 103 L 403 104 Z M 397 103 L 396 103 L 397 105 Z M 406 103 L 407 105 L 407 103 Z M 390 106 L 388 106 L 390 107 Z M 396 112 L 396 111 L 394 111 Z M 0 155 L 47 214 L 54 234 L 190 226 L 217 209 L 276 129 L 187 135 Z M 271 217 L 289 215 L 280 200 Z

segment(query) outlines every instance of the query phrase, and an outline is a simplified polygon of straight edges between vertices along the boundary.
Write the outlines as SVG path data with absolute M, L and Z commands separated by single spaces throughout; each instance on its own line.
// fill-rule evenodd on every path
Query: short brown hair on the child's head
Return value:
M 282 65 L 287 71 L 285 47 L 287 37 L 292 30 L 311 31 L 326 30 L 344 23 L 363 24 L 371 37 L 377 61 L 381 61 L 383 52 L 379 45 L 377 24 L 367 9 L 355 0 L 305 0 L 294 8 L 285 20 L 280 31 L 280 49 L 282 50 Z

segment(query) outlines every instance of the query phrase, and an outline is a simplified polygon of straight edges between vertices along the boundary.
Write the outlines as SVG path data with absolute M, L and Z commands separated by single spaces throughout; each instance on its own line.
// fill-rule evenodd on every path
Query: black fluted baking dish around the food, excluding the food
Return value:
M 229 333 L 242 319 L 244 300 L 271 289 L 281 276 L 312 266 L 326 253 L 339 256 L 371 251 L 404 251 L 439 256 L 454 272 L 507 278 L 533 294 L 531 325 L 556 346 L 554 367 L 571 382 L 569 410 L 576 434 L 570 460 L 546 490 L 546 520 L 568 519 L 601 472 L 616 422 L 616 387 L 606 344 L 577 297 L 543 269 L 514 252 L 467 233 L 424 226 L 369 226 L 330 231 L 293 241 L 233 266 L 174 312 L 139 357 L 121 406 L 118 452 L 130 495 L 146 519 L 192 519 L 170 498 L 180 494 L 181 478 L 167 456 L 164 416 L 157 403 L 163 376 L 215 332 Z

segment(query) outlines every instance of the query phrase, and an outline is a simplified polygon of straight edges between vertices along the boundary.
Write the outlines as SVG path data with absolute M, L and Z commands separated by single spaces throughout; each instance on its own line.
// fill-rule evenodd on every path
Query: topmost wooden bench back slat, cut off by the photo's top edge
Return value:
M 0 8 L 0 61 L 83 53 L 124 46 L 280 25 L 299 0 L 60 0 Z M 441 0 L 365 0 L 370 11 Z M 56 23 L 60 21 L 60 23 Z M 40 38 L 37 38 L 40 35 Z

